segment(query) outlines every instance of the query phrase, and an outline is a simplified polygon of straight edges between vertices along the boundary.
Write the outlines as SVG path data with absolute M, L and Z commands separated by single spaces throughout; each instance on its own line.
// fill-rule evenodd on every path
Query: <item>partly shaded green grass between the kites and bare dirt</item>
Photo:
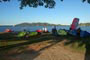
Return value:
M 7 37 L 8 35 L 8 37 Z M 0 47 L 3 46 L 14 46 L 14 45 L 29 45 L 33 43 L 38 43 L 42 41 L 47 41 L 47 40 L 52 40 L 50 43 L 58 43 L 60 40 L 66 39 L 67 41 L 64 43 L 66 47 L 70 47 L 72 50 L 76 51 L 85 51 L 85 45 L 90 42 L 90 37 L 87 38 L 76 38 L 73 36 L 59 36 L 59 37 L 54 37 L 51 34 L 45 34 L 45 35 L 37 35 L 36 32 L 32 32 L 31 37 L 29 38 L 18 38 L 15 37 L 16 34 L 12 33 L 5 33 L 5 34 L 0 34 Z M 53 39 L 54 38 L 54 39 Z M 58 38 L 58 39 L 57 39 Z M 88 41 L 88 42 L 86 42 Z M 18 47 L 18 46 L 14 46 Z

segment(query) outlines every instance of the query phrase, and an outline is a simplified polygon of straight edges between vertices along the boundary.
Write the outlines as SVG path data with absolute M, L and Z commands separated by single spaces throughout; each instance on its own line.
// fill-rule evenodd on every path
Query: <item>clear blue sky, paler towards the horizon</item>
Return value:
M 44 7 L 25 7 L 20 10 L 20 2 L 0 3 L 0 25 L 15 25 L 19 23 L 47 22 L 53 24 L 70 25 L 74 18 L 79 18 L 79 23 L 90 22 L 90 4 L 82 0 L 55 0 L 53 9 Z

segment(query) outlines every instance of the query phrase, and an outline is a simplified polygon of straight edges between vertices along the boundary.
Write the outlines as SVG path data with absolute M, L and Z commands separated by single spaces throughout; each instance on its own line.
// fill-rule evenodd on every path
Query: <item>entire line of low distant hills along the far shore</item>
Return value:
M 90 26 L 90 23 L 80 23 L 80 26 Z M 16 25 L 0 25 L 0 27 L 11 27 L 11 26 L 69 26 L 69 25 L 61 25 L 61 24 L 50 24 L 50 23 L 20 23 Z

